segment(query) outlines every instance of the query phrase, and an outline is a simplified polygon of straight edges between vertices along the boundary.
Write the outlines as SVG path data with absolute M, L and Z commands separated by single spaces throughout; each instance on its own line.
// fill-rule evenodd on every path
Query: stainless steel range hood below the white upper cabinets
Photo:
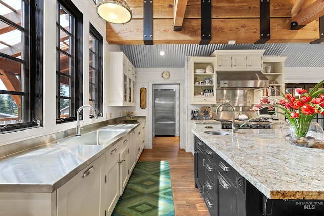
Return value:
M 269 79 L 261 71 L 217 72 L 218 88 L 263 88 L 269 86 Z

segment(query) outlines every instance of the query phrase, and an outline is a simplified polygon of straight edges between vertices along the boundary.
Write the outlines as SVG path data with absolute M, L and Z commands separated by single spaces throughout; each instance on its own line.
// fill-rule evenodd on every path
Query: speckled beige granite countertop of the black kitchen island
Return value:
M 270 199 L 324 199 L 324 150 L 285 143 L 281 130 L 192 132 Z

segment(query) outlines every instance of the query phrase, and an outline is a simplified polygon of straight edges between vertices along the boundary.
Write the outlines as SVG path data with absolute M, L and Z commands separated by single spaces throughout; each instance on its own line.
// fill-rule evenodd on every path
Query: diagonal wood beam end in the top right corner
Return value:
M 296 7 L 297 8 L 297 7 Z M 305 9 L 292 16 L 292 29 L 300 29 L 324 15 L 324 1 L 316 0 Z

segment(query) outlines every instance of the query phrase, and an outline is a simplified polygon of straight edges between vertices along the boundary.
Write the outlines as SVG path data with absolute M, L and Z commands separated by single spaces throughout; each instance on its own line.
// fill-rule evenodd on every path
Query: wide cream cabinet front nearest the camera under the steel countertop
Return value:
M 103 163 L 100 156 L 57 190 L 57 215 L 100 215 Z

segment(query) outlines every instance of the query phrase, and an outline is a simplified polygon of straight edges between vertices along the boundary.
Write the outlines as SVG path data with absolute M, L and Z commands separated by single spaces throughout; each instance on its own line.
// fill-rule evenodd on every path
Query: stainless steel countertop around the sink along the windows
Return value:
M 99 128 L 124 130 L 102 145 L 62 145 L 69 139 L 67 137 L 4 157 L 0 160 L 0 192 L 51 193 L 138 125 L 116 124 Z

